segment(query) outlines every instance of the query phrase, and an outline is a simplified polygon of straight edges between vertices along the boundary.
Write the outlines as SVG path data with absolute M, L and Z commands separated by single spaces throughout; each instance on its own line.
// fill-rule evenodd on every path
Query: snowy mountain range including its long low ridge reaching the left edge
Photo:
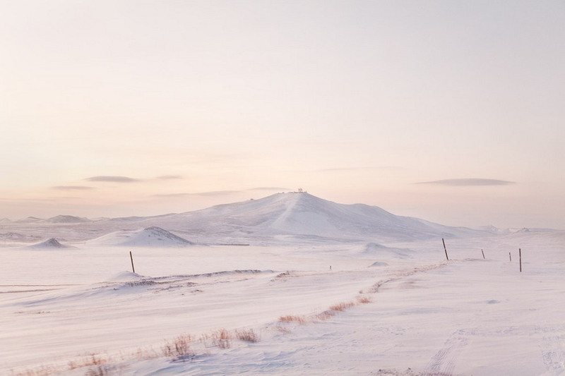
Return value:
M 338 204 L 309 193 L 277 193 L 258 200 L 217 205 L 181 214 L 96 221 L 72 216 L 57 216 L 47 220 L 30 217 L 25 222 L 3 226 L 8 231 L 17 230 L 20 234 L 26 234 L 25 229 L 28 229 L 33 235 L 42 234 L 44 238 L 54 236 L 69 241 L 86 241 L 107 235 L 109 238 L 97 239 L 97 242 L 119 245 L 127 238 L 131 245 L 157 246 L 170 245 L 166 245 L 167 242 L 186 245 L 184 242 L 188 241 L 185 239 L 196 243 L 267 245 L 289 241 L 383 243 L 493 234 L 488 230 L 443 226 L 423 219 L 400 217 L 376 206 Z M 149 228 L 153 227 L 160 228 L 168 235 L 155 229 L 150 231 Z M 137 234 L 136 238 L 132 238 L 134 234 Z

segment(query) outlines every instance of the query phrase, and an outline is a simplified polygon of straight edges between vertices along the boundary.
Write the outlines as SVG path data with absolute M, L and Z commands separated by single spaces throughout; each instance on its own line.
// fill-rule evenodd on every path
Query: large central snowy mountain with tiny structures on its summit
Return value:
M 278 193 L 259 200 L 143 220 L 191 236 L 331 238 L 343 241 L 412 241 L 477 235 L 460 227 L 400 217 L 376 206 L 344 205 L 309 193 Z

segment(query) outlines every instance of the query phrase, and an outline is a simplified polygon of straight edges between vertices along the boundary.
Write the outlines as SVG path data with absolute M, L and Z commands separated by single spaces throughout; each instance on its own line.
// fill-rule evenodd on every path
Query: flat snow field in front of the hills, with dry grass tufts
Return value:
M 140 248 L 138 274 L 128 272 L 127 248 L 2 249 L 0 370 L 563 375 L 564 239 L 559 231 L 449 239 L 449 262 L 441 239 Z M 213 341 L 222 328 L 233 337 L 228 348 Z M 238 329 L 259 341 L 238 341 Z M 194 356 L 162 356 L 182 336 Z M 90 354 L 107 363 L 70 369 Z

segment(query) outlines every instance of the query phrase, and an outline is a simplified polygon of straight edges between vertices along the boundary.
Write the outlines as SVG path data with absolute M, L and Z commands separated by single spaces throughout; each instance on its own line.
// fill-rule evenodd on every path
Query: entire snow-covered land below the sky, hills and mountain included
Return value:
M 565 231 L 284 194 L 0 236 L 2 375 L 565 375 Z

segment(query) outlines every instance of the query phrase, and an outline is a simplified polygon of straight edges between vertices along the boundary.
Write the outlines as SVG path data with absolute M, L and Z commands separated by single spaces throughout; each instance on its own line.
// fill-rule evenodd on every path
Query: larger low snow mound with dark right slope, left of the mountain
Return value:
M 90 245 L 124 245 L 131 247 L 183 247 L 193 244 L 180 236 L 155 226 L 136 231 L 112 232 L 88 243 Z

